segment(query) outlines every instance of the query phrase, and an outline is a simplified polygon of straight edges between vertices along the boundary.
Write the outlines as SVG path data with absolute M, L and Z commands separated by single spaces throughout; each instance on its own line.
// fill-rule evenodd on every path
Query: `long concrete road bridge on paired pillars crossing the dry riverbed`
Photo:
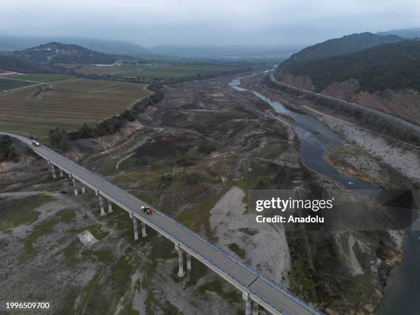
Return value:
M 242 292 L 246 315 L 250 315 L 251 312 L 253 315 L 258 314 L 259 305 L 272 314 L 323 314 L 162 211 L 154 209 L 152 215 L 143 213 L 141 211 L 143 205 L 150 207 L 146 202 L 132 196 L 105 178 L 86 170 L 45 145 L 32 145 L 30 139 L 11 133 L 0 132 L 0 135 L 9 135 L 23 141 L 36 154 L 47 160 L 53 178 L 57 178 L 56 169 L 60 177 L 64 176 L 64 172 L 67 173 L 73 181 L 76 196 L 79 194 L 78 185 L 81 185 L 82 194 L 86 192 L 86 187 L 93 189 L 99 199 L 101 215 L 106 215 L 104 200 L 108 202 L 108 213 L 113 211 L 113 203 L 127 211 L 132 218 L 135 240 L 139 237 L 137 224 L 140 221 L 141 237 L 147 236 L 146 226 L 148 226 L 173 242 L 178 251 L 178 277 L 185 275 L 184 255 L 187 258 L 187 270 L 191 269 L 192 256 L 216 272 Z

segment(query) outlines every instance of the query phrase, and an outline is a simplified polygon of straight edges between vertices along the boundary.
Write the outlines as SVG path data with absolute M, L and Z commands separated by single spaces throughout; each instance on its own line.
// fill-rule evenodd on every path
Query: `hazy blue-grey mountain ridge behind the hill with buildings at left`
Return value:
M 120 40 L 101 40 L 94 38 L 73 38 L 73 37 L 12 37 L 0 36 L 0 51 L 22 50 L 50 42 L 63 44 L 75 44 L 105 54 L 126 55 L 126 56 L 151 56 L 156 53 L 141 47 L 135 43 Z

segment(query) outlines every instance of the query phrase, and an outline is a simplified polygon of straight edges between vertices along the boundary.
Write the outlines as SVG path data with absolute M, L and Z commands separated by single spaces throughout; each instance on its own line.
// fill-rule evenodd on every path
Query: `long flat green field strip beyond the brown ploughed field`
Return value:
M 138 77 L 145 79 L 154 78 L 180 78 L 189 75 L 207 74 L 219 71 L 233 70 L 234 67 L 220 65 L 187 65 L 187 64 L 159 64 L 154 66 L 145 65 L 122 65 L 111 67 L 96 67 L 89 65 L 58 64 L 68 67 L 76 72 L 97 75 L 118 75 L 126 77 Z

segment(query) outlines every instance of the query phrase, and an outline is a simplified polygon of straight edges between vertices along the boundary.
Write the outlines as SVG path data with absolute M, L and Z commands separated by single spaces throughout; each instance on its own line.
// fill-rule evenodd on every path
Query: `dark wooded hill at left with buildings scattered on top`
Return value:
M 25 73 L 59 73 L 67 70 L 57 66 L 58 63 L 110 64 L 119 58 L 118 55 L 104 54 L 79 45 L 51 42 L 0 55 L 0 69 Z

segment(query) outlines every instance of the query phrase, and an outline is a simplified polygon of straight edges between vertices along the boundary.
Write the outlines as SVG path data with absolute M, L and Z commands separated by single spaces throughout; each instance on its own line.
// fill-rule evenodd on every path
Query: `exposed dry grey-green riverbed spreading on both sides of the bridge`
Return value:
M 231 89 L 231 79 L 165 86 L 163 101 L 137 122 L 116 135 L 78 140 L 69 157 L 325 312 L 368 314 L 401 255 L 401 235 L 263 231 L 245 222 L 248 189 L 340 187 L 307 170 L 288 124 L 251 93 Z M 124 211 L 100 217 L 92 191 L 73 196 L 67 178 L 54 182 L 45 161 L 23 149 L 22 156 L 0 165 L 1 301 L 51 301 L 56 314 L 244 312 L 240 292 L 198 261 L 179 279 L 171 242 L 152 231 L 135 242 Z M 382 176 L 389 183 L 390 173 Z M 96 242 L 81 242 L 86 231 Z M 379 244 L 386 244 L 380 257 Z

